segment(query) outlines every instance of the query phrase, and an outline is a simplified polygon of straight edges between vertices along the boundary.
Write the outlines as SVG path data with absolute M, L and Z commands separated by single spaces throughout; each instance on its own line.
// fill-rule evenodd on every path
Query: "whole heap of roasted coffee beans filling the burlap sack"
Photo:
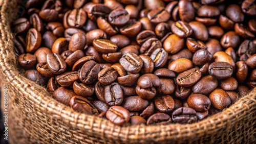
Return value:
M 256 86 L 253 0 L 27 0 L 25 76 L 116 125 L 195 123 Z

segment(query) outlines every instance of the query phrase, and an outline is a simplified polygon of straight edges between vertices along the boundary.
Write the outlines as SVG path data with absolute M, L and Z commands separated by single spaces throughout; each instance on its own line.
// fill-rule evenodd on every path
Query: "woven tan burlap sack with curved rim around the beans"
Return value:
M 18 0 L 0 0 L 0 66 L 2 87 L 8 87 L 10 143 L 256 142 L 256 88 L 223 112 L 187 125 L 120 127 L 56 102 L 17 70 L 10 27 L 17 5 Z

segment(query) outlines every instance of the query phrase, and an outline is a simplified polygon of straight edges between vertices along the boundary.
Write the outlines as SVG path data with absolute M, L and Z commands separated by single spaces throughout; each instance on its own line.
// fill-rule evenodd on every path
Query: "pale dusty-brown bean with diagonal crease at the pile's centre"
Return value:
M 127 53 L 119 60 L 122 67 L 130 73 L 138 73 L 143 66 L 143 60 L 134 53 Z

